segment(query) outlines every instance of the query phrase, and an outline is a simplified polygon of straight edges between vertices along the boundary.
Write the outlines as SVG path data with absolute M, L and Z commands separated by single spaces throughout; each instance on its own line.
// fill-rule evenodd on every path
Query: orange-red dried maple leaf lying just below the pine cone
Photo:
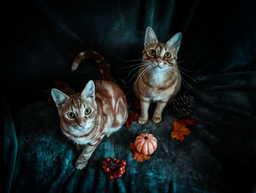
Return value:
M 184 135 L 189 135 L 191 132 L 186 127 L 187 125 L 195 125 L 197 124 L 197 120 L 194 119 L 178 119 L 173 122 L 173 131 L 171 132 L 172 138 L 176 138 L 177 140 L 184 140 Z

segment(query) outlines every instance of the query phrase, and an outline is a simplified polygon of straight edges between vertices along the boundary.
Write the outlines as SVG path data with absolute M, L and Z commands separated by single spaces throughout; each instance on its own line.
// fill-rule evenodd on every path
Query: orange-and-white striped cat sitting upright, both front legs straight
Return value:
M 158 42 L 153 29 L 146 29 L 142 62 L 135 80 L 134 91 L 140 99 L 140 124 L 148 121 L 150 102 L 157 102 L 153 121 L 162 121 L 162 110 L 169 99 L 181 87 L 181 75 L 177 65 L 177 53 L 181 45 L 181 33 L 166 43 Z

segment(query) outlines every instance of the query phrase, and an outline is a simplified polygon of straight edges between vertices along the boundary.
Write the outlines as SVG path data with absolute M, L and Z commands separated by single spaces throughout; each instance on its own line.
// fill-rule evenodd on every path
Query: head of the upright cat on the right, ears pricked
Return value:
M 181 32 L 171 37 L 166 43 L 158 42 L 153 29 L 146 29 L 143 61 L 151 64 L 151 69 L 157 72 L 165 72 L 167 69 L 177 67 L 177 53 L 181 45 Z

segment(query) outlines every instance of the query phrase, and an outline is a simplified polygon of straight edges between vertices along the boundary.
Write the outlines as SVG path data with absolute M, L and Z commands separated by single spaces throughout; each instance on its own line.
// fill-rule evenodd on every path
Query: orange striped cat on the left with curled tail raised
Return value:
M 81 93 L 70 96 L 56 88 L 51 91 L 59 110 L 62 132 L 77 144 L 77 148 L 85 145 L 75 162 L 78 170 L 86 167 L 102 138 L 120 129 L 128 116 L 126 96 L 116 83 L 108 81 L 112 80 L 110 65 L 99 53 L 80 53 L 72 64 L 72 71 L 77 69 L 84 58 L 97 61 L 105 80 L 90 80 Z

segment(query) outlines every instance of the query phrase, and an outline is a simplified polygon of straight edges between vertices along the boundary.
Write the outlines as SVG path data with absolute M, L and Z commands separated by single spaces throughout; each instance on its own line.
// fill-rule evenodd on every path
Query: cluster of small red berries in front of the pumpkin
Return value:
M 110 179 L 113 178 L 121 178 L 121 176 L 125 173 L 125 165 L 127 162 L 125 161 L 119 161 L 116 158 L 113 159 L 106 159 L 106 161 L 102 162 L 102 169 L 105 171 L 105 173 L 109 173 Z

